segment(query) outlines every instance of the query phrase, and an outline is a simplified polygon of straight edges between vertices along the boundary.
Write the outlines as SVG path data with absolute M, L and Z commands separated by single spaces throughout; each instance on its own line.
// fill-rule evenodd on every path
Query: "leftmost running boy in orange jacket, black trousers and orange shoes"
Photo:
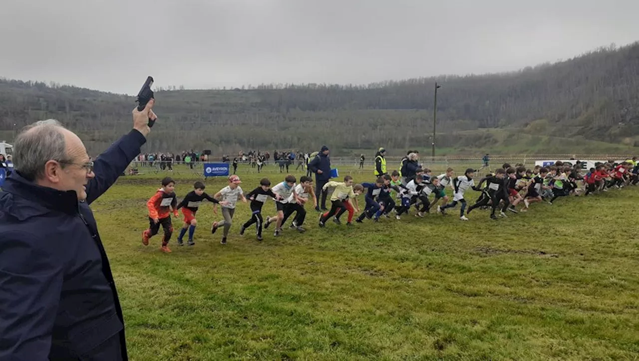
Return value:
M 171 253 L 169 249 L 169 240 L 173 234 L 173 224 L 171 224 L 171 215 L 169 211 L 173 209 L 173 215 L 178 215 L 178 199 L 175 196 L 175 181 L 170 177 L 162 180 L 162 188 L 149 199 L 146 203 L 149 209 L 149 229 L 142 232 L 142 244 L 149 245 L 149 238 L 158 234 L 160 226 L 164 229 L 164 238 L 162 238 L 162 252 Z

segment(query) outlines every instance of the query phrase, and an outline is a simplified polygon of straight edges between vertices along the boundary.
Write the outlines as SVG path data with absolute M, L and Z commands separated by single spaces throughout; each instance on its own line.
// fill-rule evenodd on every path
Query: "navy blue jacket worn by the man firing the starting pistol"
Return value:
M 124 319 L 89 204 L 140 153 L 132 130 L 96 158 L 87 199 L 15 171 L 0 192 L 0 360 L 128 360 Z M 98 346 L 100 346 L 98 348 Z

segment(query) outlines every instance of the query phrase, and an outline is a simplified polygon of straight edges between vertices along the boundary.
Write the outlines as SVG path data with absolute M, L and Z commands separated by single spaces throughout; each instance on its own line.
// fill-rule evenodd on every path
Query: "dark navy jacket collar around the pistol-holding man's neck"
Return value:
M 79 203 L 75 190 L 65 191 L 42 187 L 32 181 L 26 180 L 16 171 L 13 171 L 13 173 L 6 178 L 3 190 L 33 203 L 37 203 L 48 210 L 63 211 L 71 215 L 79 211 Z

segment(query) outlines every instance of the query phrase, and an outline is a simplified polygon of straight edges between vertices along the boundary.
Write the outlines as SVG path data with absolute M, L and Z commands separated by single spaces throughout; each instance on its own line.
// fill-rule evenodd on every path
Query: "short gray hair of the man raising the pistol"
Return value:
M 64 128 L 56 119 L 24 127 L 13 142 L 13 171 L 34 181 L 44 176 L 44 166 L 49 160 L 66 162 L 66 142 L 61 132 Z

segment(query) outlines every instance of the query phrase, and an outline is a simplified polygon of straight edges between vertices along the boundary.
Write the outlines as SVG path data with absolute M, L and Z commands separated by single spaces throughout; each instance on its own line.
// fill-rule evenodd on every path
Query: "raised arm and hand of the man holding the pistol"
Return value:
M 86 185 L 86 202 L 91 204 L 102 196 L 104 192 L 118 180 L 132 160 L 140 154 L 140 148 L 146 142 L 146 135 L 151 128 L 148 126 L 149 119 L 157 119 L 151 110 L 155 100 L 151 99 L 142 111 L 137 107 L 133 110 L 133 129 L 127 134 L 111 144 L 109 149 L 98 155 L 93 162 L 93 173 L 95 178 Z

